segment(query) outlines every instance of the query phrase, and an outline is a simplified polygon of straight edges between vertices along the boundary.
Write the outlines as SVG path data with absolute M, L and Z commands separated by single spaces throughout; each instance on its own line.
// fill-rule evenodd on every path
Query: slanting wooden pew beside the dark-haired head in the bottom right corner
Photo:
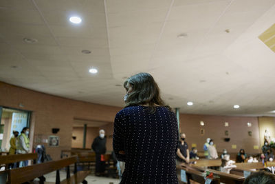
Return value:
M 225 172 L 220 172 L 217 170 L 205 169 L 203 167 L 198 167 L 196 165 L 190 165 L 189 167 L 192 167 L 194 170 L 198 170 L 200 172 L 204 172 L 205 170 L 208 170 L 209 172 L 212 172 L 213 174 L 216 174 L 217 176 L 219 176 L 220 181 L 226 184 L 241 184 L 245 180 L 243 176 L 238 176 L 235 174 L 227 174 Z

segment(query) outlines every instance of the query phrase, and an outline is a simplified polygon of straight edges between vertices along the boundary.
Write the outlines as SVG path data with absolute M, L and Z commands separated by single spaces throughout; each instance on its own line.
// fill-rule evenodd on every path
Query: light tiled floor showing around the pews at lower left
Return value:
M 51 172 L 50 174 L 46 174 L 44 176 L 45 176 L 47 182 L 55 182 L 56 181 L 56 172 Z M 63 179 L 66 178 L 66 172 L 61 171 L 60 176 L 61 176 L 61 181 L 62 181 Z M 109 183 L 118 184 L 118 183 L 120 183 L 120 180 L 116 179 L 116 178 L 98 177 L 98 176 L 94 176 L 92 174 L 87 176 L 87 178 L 85 178 L 85 180 L 89 184 L 109 184 Z

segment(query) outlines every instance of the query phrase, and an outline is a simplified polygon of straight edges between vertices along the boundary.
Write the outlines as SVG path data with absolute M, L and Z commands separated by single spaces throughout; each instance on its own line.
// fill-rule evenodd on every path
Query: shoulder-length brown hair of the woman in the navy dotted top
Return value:
M 133 91 L 127 96 L 125 107 L 148 103 L 148 109 L 151 113 L 155 112 L 155 105 L 164 106 L 171 110 L 160 97 L 159 87 L 151 74 L 139 73 L 129 77 L 124 82 L 126 90 L 128 90 L 126 88 L 127 83 L 131 85 Z

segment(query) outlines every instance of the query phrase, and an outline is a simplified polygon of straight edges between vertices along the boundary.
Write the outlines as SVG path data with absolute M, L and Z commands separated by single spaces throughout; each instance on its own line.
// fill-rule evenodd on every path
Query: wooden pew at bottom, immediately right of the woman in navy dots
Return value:
M 188 184 L 192 181 L 195 181 L 197 183 L 205 183 L 205 179 L 203 177 L 203 172 L 194 170 L 194 169 L 192 169 L 192 167 L 177 166 L 177 178 L 178 178 L 179 184 L 184 183 L 183 181 L 181 181 L 181 170 L 184 170 L 186 172 L 186 181 Z M 211 180 L 212 184 L 220 183 L 219 178 L 210 178 L 210 180 Z

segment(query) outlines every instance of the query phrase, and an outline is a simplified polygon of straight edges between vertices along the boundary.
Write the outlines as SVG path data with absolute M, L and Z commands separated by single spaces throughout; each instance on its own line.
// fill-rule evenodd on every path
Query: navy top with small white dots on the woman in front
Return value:
M 126 163 L 120 184 L 176 184 L 177 118 L 164 107 L 147 109 L 132 106 L 115 116 L 113 150 Z

